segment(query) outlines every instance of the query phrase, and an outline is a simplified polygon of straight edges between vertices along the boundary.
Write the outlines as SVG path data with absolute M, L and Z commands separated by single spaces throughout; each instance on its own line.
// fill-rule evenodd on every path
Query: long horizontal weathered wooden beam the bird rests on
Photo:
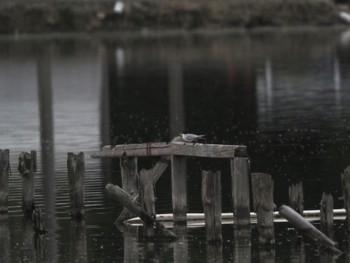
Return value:
M 119 158 L 123 153 L 126 153 L 129 157 L 181 155 L 209 158 L 233 158 L 237 155 L 246 155 L 246 152 L 247 147 L 244 145 L 152 142 L 104 146 L 101 151 L 93 153 L 91 157 Z

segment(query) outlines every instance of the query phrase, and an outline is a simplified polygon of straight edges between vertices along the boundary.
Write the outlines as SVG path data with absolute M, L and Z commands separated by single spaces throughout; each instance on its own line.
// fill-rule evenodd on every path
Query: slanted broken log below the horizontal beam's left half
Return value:
M 163 233 L 163 235 L 170 238 L 177 238 L 173 232 L 166 229 L 161 223 L 157 222 L 155 218 L 147 214 L 146 211 L 141 208 L 139 202 L 134 200 L 130 195 L 128 195 L 128 193 L 126 193 L 117 185 L 107 184 L 106 191 L 113 198 L 113 200 L 127 207 L 132 213 L 140 217 L 144 222 L 153 223 L 155 227 Z

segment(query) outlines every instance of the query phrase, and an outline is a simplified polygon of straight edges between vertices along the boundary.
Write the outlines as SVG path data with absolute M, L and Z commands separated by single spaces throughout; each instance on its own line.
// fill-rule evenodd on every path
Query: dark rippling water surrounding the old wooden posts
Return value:
M 0 40 L 0 148 L 10 149 L 9 214 L 0 218 L 1 262 L 335 262 L 317 245 L 276 225 L 274 250 L 257 231 L 223 226 L 222 245 L 204 228 L 176 242 L 144 242 L 113 224 L 121 211 L 104 192 L 120 184 L 118 160 L 91 159 L 102 145 L 169 141 L 179 131 L 208 143 L 244 144 L 253 172 L 275 181 L 275 203 L 302 181 L 305 208 L 322 192 L 342 206 L 340 174 L 350 165 L 350 37 L 338 29 L 22 37 Z M 21 151 L 38 151 L 36 204 L 49 233 L 33 238 L 21 212 Z M 67 152 L 85 152 L 86 219 L 70 221 Z M 156 159 L 139 160 L 149 168 Z M 188 161 L 189 212 L 202 212 L 201 169 L 221 170 L 230 212 L 227 161 Z M 158 213 L 171 212 L 170 173 L 156 186 Z M 142 231 L 140 231 L 142 232 Z M 345 227 L 335 240 L 348 261 Z M 252 237 L 252 238 L 250 238 Z

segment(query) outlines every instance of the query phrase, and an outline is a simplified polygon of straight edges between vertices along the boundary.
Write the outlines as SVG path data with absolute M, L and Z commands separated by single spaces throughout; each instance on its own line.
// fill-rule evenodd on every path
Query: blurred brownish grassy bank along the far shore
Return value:
M 44 33 L 338 24 L 339 7 L 326 0 L 236 0 L 1 4 L 0 33 Z M 343 7 L 344 8 L 344 7 Z

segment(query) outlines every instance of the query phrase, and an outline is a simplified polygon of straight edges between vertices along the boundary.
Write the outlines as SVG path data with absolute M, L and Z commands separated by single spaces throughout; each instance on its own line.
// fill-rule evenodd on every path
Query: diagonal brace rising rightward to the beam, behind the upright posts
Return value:
M 166 168 L 168 167 L 170 163 L 170 157 L 164 156 L 161 157 L 160 160 L 152 167 L 151 174 L 153 177 L 153 185 L 156 185 L 158 179 L 160 176 L 164 173 Z M 133 199 L 136 201 L 139 200 L 139 193 L 134 192 L 133 194 L 130 194 Z M 131 218 L 133 214 L 129 211 L 129 209 L 124 208 L 123 211 L 120 213 L 119 217 L 116 220 L 116 223 L 123 222 L 129 218 Z

